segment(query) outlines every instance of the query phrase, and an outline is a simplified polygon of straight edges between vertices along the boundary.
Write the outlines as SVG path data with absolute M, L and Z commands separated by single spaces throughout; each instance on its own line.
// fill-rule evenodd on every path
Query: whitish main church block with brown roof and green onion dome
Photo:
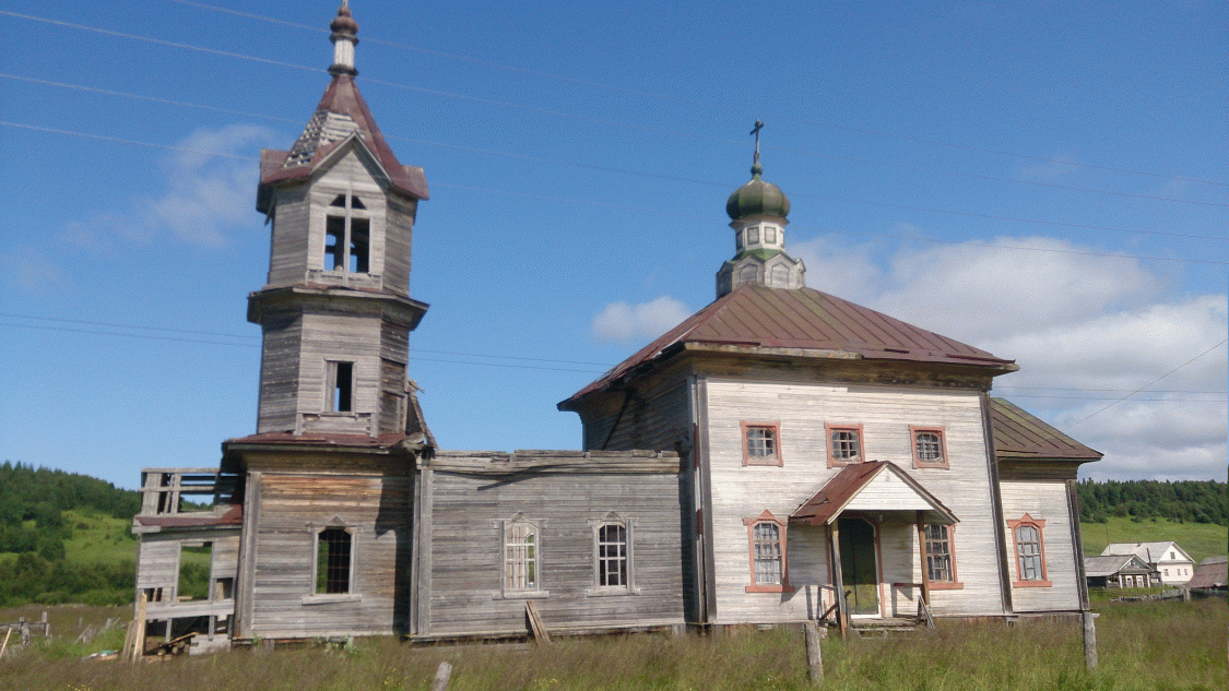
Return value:
M 1086 609 L 1073 482 L 1100 454 L 989 398 L 1010 360 L 805 287 L 758 141 L 751 176 L 717 301 L 559 404 L 586 449 L 691 458 L 688 620 Z

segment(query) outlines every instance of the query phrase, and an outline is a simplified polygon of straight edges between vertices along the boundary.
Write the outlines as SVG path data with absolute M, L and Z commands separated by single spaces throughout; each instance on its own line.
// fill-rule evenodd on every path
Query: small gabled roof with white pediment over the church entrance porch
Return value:
M 908 473 L 887 460 L 844 466 L 789 519 L 803 525 L 831 525 L 846 511 L 922 512 L 930 525 L 960 520 Z

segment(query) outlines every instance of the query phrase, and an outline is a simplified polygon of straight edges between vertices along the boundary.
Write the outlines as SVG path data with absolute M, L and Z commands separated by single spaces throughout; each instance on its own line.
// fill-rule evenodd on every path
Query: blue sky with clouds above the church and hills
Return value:
M 431 199 L 412 377 L 454 449 L 578 448 L 554 404 L 713 299 L 748 176 L 807 285 L 1015 358 L 1106 458 L 1227 475 L 1225 2 L 376 2 L 359 85 Z M 262 147 L 337 5 L 0 10 L 0 459 L 135 486 L 254 431 Z

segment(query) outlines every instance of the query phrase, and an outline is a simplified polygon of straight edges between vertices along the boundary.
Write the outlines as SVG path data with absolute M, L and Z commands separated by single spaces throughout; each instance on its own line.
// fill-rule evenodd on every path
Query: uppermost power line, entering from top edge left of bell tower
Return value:
M 284 26 L 289 26 L 289 27 L 294 27 L 294 28 L 299 28 L 299 29 L 305 29 L 305 31 L 311 31 L 311 32 L 316 32 L 316 33 L 327 33 L 326 29 L 323 29 L 321 27 L 317 27 L 317 26 L 308 26 L 308 25 L 291 22 L 291 21 L 286 21 L 286 20 L 279 20 L 279 18 L 275 18 L 275 17 L 267 17 L 267 16 L 262 16 L 262 15 L 253 15 L 253 14 L 249 14 L 249 12 L 240 12 L 237 10 L 231 10 L 231 9 L 227 9 L 227 7 L 219 7 L 219 6 L 215 6 L 215 5 L 205 5 L 203 2 L 192 2 L 189 0 L 171 0 L 171 1 L 172 2 L 177 2 L 179 5 L 187 5 L 187 6 L 190 6 L 190 7 L 199 7 L 199 9 L 203 9 L 203 10 L 211 10 L 211 11 L 215 11 L 215 12 L 226 12 L 226 14 L 230 14 L 230 15 L 236 15 L 236 16 L 249 18 L 249 20 L 257 20 L 257 21 L 263 21 L 263 22 L 284 25 Z M 664 93 L 654 93 L 654 92 L 650 92 L 650 91 L 643 91 L 643 90 L 637 90 L 637 88 L 628 88 L 628 87 L 622 87 L 622 86 L 614 86 L 614 85 L 605 83 L 605 82 L 583 80 L 583 79 L 578 79 L 578 77 L 569 77 L 569 76 L 564 76 L 564 75 L 557 75 L 557 74 L 552 74 L 552 72 L 544 72 L 544 71 L 541 71 L 541 70 L 531 70 L 528 68 L 520 68 L 520 66 L 514 66 L 514 65 L 505 65 L 503 63 L 494 63 L 494 61 L 490 61 L 490 60 L 482 60 L 482 59 L 478 59 L 478 58 L 472 58 L 472 56 L 468 56 L 468 55 L 461 55 L 461 54 L 456 54 L 456 53 L 445 53 L 445 52 L 441 52 L 441 50 L 433 50 L 433 49 L 429 49 L 429 48 L 422 48 L 422 47 L 409 45 L 409 44 L 404 44 L 404 43 L 396 43 L 396 42 L 385 41 L 385 39 L 381 39 L 381 38 L 364 37 L 363 41 L 366 41 L 366 42 L 370 42 L 370 43 L 377 43 L 377 44 L 381 44 L 381 45 L 388 45 L 388 47 L 392 47 L 392 48 L 401 48 L 403 50 L 412 50 L 412 52 L 415 52 L 415 53 L 423 53 L 423 54 L 426 54 L 426 55 L 435 55 L 435 56 L 440 56 L 440 58 L 447 58 L 450 60 L 461 60 L 461 61 L 466 61 L 466 63 L 473 63 L 476 65 L 483 65 L 483 66 L 488 66 L 488 68 L 497 68 L 497 69 L 509 70 L 509 71 L 515 71 L 515 72 L 521 72 L 521 74 L 526 74 L 526 75 L 541 76 L 541 77 L 547 77 L 547 79 L 552 79 L 552 80 L 558 80 L 558 81 L 565 81 L 565 82 L 569 82 L 569 83 L 576 83 L 576 85 L 581 85 L 581 86 L 594 86 L 594 87 L 605 88 L 605 90 L 608 90 L 608 91 L 616 91 L 616 92 L 626 93 L 626 95 L 630 95 L 630 96 L 640 96 L 640 97 L 655 98 L 655 99 L 659 99 L 659 101 L 669 101 L 669 102 L 672 102 L 672 103 L 682 103 L 682 104 L 687 104 L 687 106 L 698 106 L 698 107 L 702 107 L 702 108 L 712 108 L 712 109 L 717 109 L 717 110 L 725 110 L 725 112 L 729 112 L 729 113 L 746 113 L 748 115 L 763 115 L 762 110 L 755 110 L 755 112 L 752 112 L 752 110 L 747 110 L 746 108 L 737 108 L 737 107 L 732 107 L 732 106 L 728 106 L 728 104 L 723 104 L 723 103 L 707 103 L 707 102 L 703 102 L 703 101 L 694 101 L 694 99 L 689 99 L 689 98 L 680 98 L 677 96 L 670 96 L 670 95 L 664 95 Z M 1152 173 L 1152 172 L 1145 172 L 1145 171 L 1136 171 L 1136 169 L 1131 169 L 1131 168 L 1115 168 L 1115 167 L 1111 167 L 1111 166 L 1097 166 L 1097 164 L 1094 164 L 1094 163 L 1082 163 L 1082 162 L 1078 162 L 1078 161 L 1067 161 L 1067 160 L 1062 160 L 1062 158 L 1047 158 L 1045 156 L 1032 156 L 1032 155 L 1029 155 L 1029 153 L 1016 153 L 1016 152 L 1003 151 L 1003 150 L 998 150 L 998 149 L 987 149 L 987 147 L 981 147 L 981 146 L 971 146 L 971 145 L 967 145 L 967 144 L 954 144 L 954 142 L 948 142 L 948 141 L 923 139 L 923 137 L 902 135 L 902 134 L 897 134 L 897 133 L 886 133 L 886 131 L 881 131 L 881 130 L 871 130 L 871 129 L 865 129 L 865 128 L 852 128 L 852 126 L 837 125 L 837 124 L 832 124 L 832 123 L 821 123 L 819 120 L 791 118 L 791 117 L 782 115 L 782 114 L 772 114 L 772 117 L 774 119 L 782 119 L 782 120 L 790 122 L 790 123 L 799 123 L 799 124 L 805 124 L 805 125 L 811 125 L 811 126 L 817 126 L 817 128 L 828 128 L 828 129 L 834 129 L 834 130 L 841 130 L 841 131 L 850 131 L 850 133 L 858 133 L 858 134 L 869 134 L 869 135 L 875 135 L 875 136 L 884 136 L 884 137 L 890 137 L 890 139 L 897 139 L 897 140 L 902 140 L 902 141 L 912 141 L 912 142 L 916 142 L 916 144 L 929 144 L 929 145 L 934 145 L 934 146 L 945 146 L 945 147 L 960 149 L 960 150 L 965 150 L 965 151 L 976 151 L 976 152 L 980 152 L 980 153 L 994 153 L 994 155 L 999 155 L 999 156 L 1011 156 L 1011 157 L 1015 157 L 1015 158 L 1025 158 L 1025 160 L 1029 160 L 1029 161 L 1037 161 L 1037 162 L 1043 162 L 1043 163 L 1057 163 L 1057 164 L 1062 164 L 1062 166 L 1078 166 L 1078 167 L 1082 167 L 1082 168 L 1090 168 L 1090 169 L 1096 169 L 1096 171 L 1107 171 L 1107 172 L 1115 172 L 1115 173 L 1128 173 L 1128 174 L 1133 174 L 1133 176 L 1147 176 L 1147 177 L 1154 177 L 1154 178 L 1165 178 L 1165 179 L 1175 179 L 1175 180 L 1184 180 L 1184 182 L 1192 182 L 1192 183 L 1203 183 L 1203 184 L 1211 184 L 1211 185 L 1229 187 L 1229 183 L 1219 182 L 1219 180 L 1188 178 L 1188 177 L 1170 176 L 1170 174 L 1164 174 L 1164 173 Z

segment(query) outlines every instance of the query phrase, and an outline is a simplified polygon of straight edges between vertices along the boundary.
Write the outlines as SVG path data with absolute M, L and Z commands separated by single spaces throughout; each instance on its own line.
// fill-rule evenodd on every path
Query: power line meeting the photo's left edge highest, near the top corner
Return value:
M 136 36 L 136 34 L 122 33 L 122 32 L 116 32 L 116 31 L 109 31 L 109 29 L 103 29 L 103 28 L 97 28 L 97 27 L 88 27 L 88 26 L 76 25 L 76 23 L 71 23 L 71 22 L 64 22 L 64 21 L 60 21 L 60 20 L 50 20 L 50 18 L 44 18 L 44 17 L 34 17 L 34 16 L 31 16 L 31 15 L 22 15 L 22 14 L 18 14 L 18 12 L 10 12 L 10 11 L 5 11 L 5 10 L 0 10 L 0 15 L 9 15 L 9 16 L 18 17 L 18 18 L 25 18 L 25 20 L 47 22 L 47 23 L 52 23 L 52 25 L 55 25 L 55 26 L 64 26 L 64 27 L 81 29 L 81 31 L 92 31 L 92 32 L 106 34 L 106 36 L 114 36 L 114 37 L 119 37 L 119 38 L 132 39 L 132 41 L 145 41 L 145 42 L 155 43 L 155 44 L 159 44 L 159 45 L 168 45 L 168 47 L 173 47 L 173 48 L 182 48 L 182 49 L 186 49 L 186 50 L 199 50 L 199 52 L 208 53 L 208 54 L 214 54 L 214 55 L 222 55 L 222 56 L 227 56 L 227 58 L 238 58 L 238 59 L 243 59 L 243 60 L 254 60 L 254 61 L 258 61 L 258 63 L 272 64 L 272 65 L 278 65 L 278 66 L 288 66 L 288 68 L 294 68 L 294 69 L 297 69 L 297 70 L 305 70 L 305 71 L 312 71 L 312 72 L 327 72 L 327 70 L 321 70 L 318 68 L 308 68 L 308 66 L 305 66 L 305 65 L 295 65 L 295 64 L 291 64 L 291 63 L 283 63 L 283 61 L 279 61 L 279 60 L 270 60 L 270 59 L 267 59 L 267 58 L 258 58 L 258 56 L 254 56 L 254 55 L 246 55 L 246 54 L 232 53 L 232 52 L 227 52 L 227 50 L 216 50 L 216 49 L 213 49 L 213 48 L 204 48 L 204 47 L 199 47 L 199 45 L 190 45 L 190 44 L 187 44 L 187 43 L 178 43 L 178 42 L 163 41 L 163 39 L 157 39 L 157 38 L 141 37 L 141 36 Z M 597 123 L 597 124 L 602 124 L 602 125 L 630 128 L 630 129 L 635 129 L 635 130 L 651 131 L 651 133 L 658 133 L 658 134 L 669 134 L 669 135 L 673 135 L 673 136 L 682 136 L 682 137 L 696 139 L 696 140 L 701 140 L 701 141 L 713 141 L 713 142 L 729 144 L 729 145 L 735 145 L 735 146 L 745 146 L 746 145 L 746 142 L 744 142 L 741 140 L 729 140 L 729 139 L 724 139 L 724 137 L 702 135 L 702 134 L 698 134 L 698 133 L 688 133 L 688 131 L 675 130 L 675 129 L 669 129 L 669 128 L 656 128 L 656 126 L 650 126 L 650 125 L 638 125 L 638 124 L 633 124 L 633 123 L 623 123 L 623 122 L 611 120 L 611 119 L 606 119 L 606 118 L 592 118 L 592 117 L 589 117 L 589 115 L 578 115 L 578 114 L 574 114 L 574 113 L 565 113 L 563 110 L 553 110 L 553 109 L 546 109 L 546 108 L 537 108 L 537 107 L 533 107 L 533 106 L 524 106 L 524 104 L 520 104 L 520 103 L 509 103 L 506 101 L 497 101 L 497 99 L 482 98 L 482 97 L 477 97 L 477 96 L 468 96 L 468 95 L 455 93 L 455 92 L 430 90 L 430 88 L 424 88 L 424 87 L 412 86 L 412 85 L 404 85 L 404 83 L 398 83 L 398 82 L 392 82 L 392 81 L 386 81 L 386 80 L 377 80 L 377 79 L 370 79 L 370 77 L 367 77 L 365 81 L 369 82 L 369 83 L 379 83 L 379 85 L 383 85 L 383 86 L 391 86 L 391 87 L 395 87 L 395 88 L 402 88 L 402 90 L 407 90 L 407 91 L 414 91 L 414 92 L 418 92 L 418 93 L 428 93 L 428 95 L 441 96 L 441 97 L 446 97 L 446 98 L 456 98 L 456 99 L 472 101 L 472 102 L 477 102 L 477 103 L 485 103 L 485 104 L 490 104 L 490 106 L 499 106 L 499 107 L 503 107 L 503 108 L 527 110 L 527 112 L 532 112 L 532 113 L 553 115 L 553 117 L 558 117 L 558 118 L 568 118 L 568 119 L 574 119 L 574 120 Z M 886 161 L 874 161 L 874 160 L 869 160 L 869 158 L 855 158 L 855 157 L 848 157 L 848 156 L 837 156 L 837 155 L 831 155 L 831 153 L 822 153 L 822 152 L 806 151 L 806 150 L 795 150 L 795 149 L 788 149 L 788 147 L 775 147 L 774 146 L 774 147 L 769 147 L 769 149 L 775 150 L 775 151 L 788 151 L 788 152 L 791 152 L 791 153 L 800 153 L 800 155 L 804 155 L 804 156 L 814 156 L 814 157 L 820 157 L 820 158 L 830 158 L 830 160 L 836 160 L 836 161 L 846 161 L 846 162 L 857 162 L 857 163 L 865 163 L 865 164 L 874 164 L 874 166 L 893 167 L 893 168 L 909 169 L 909 171 L 916 171 L 916 172 L 936 173 L 936 174 L 944 174 L 944 176 L 955 176 L 955 177 L 964 177 L 964 178 L 971 178 L 971 179 L 981 179 L 981 180 L 988 180 L 988 182 L 1005 182 L 1005 183 L 1014 183 L 1014 184 L 1027 184 L 1027 185 L 1036 185 L 1036 187 L 1047 187 L 1047 188 L 1052 188 L 1052 189 L 1064 189 L 1064 190 L 1069 190 L 1069 191 L 1080 191 L 1080 193 L 1088 193 L 1088 194 L 1104 194 L 1104 195 L 1111 195 L 1111 196 L 1127 196 L 1127 198 L 1136 198 L 1136 199 L 1147 199 L 1147 200 L 1152 200 L 1152 201 L 1166 201 L 1166 203 L 1172 203 L 1172 204 L 1190 204 L 1190 205 L 1198 205 L 1198 206 L 1229 207 L 1229 204 L 1220 204 L 1220 203 L 1215 203 L 1215 201 L 1201 201 L 1201 200 L 1193 200 L 1193 199 L 1177 199 L 1177 198 L 1171 198 L 1171 196 L 1160 196 L 1160 195 L 1149 195 L 1149 194 L 1138 194 L 1138 193 L 1127 193 L 1127 191 L 1113 191 L 1113 190 L 1101 190 L 1101 189 L 1095 189 L 1095 188 L 1079 188 L 1079 187 L 1074 187 L 1074 185 L 1062 185 L 1062 184 L 1057 184 L 1057 183 L 1043 183 L 1043 182 L 1039 182 L 1039 180 L 1021 180 L 1021 179 L 1016 179 L 1016 178 L 1002 178 L 1002 177 L 983 176 L 983 174 L 977 174 L 977 173 L 962 173 L 962 172 L 959 172 L 959 171 L 944 171 L 944 169 L 940 169 L 940 168 L 927 168 L 927 167 L 923 167 L 923 166 L 913 166 L 913 164 L 907 164 L 907 163 L 893 163 L 893 162 L 886 162 Z

